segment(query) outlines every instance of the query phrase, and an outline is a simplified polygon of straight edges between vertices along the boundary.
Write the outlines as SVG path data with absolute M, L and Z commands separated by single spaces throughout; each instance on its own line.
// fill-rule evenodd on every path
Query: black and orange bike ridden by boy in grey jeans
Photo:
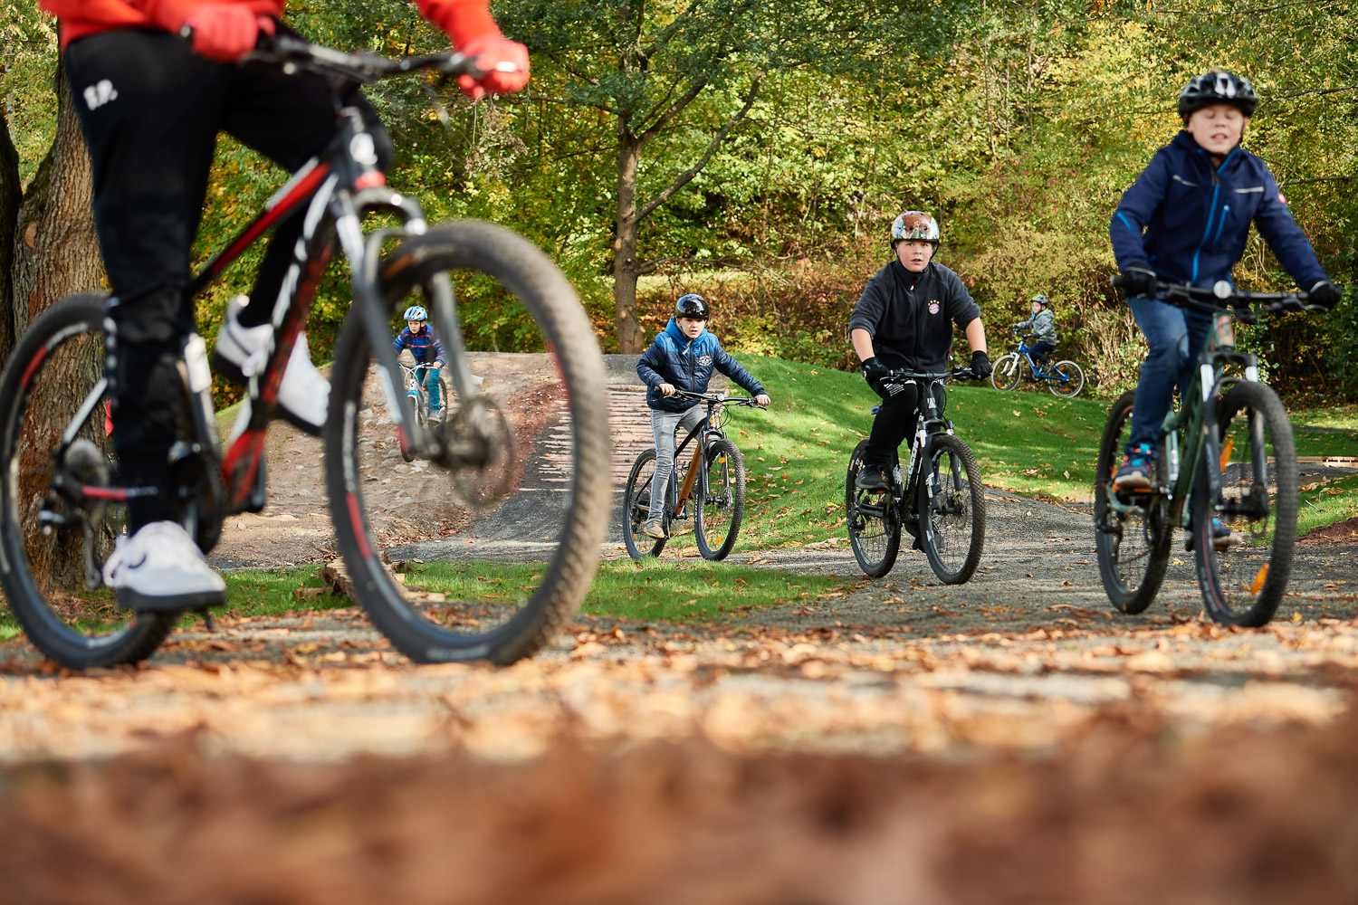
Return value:
M 695 393 L 676 389 L 676 396 L 698 399 L 708 406 L 708 417 L 699 421 L 675 449 L 675 468 L 665 486 L 665 507 L 661 526 L 665 536 L 656 539 L 645 532 L 650 510 L 650 487 L 656 476 L 656 450 L 646 449 L 631 464 L 627 490 L 622 498 L 622 539 L 633 559 L 659 556 L 669 539 L 675 521 L 689 518 L 693 503 L 694 539 L 703 559 L 725 559 L 736 545 L 740 520 L 746 512 L 746 461 L 740 449 L 727 438 L 722 415 L 727 406 L 755 406 L 754 399 L 732 399 L 720 393 Z M 679 476 L 679 457 L 693 444 L 693 457 Z

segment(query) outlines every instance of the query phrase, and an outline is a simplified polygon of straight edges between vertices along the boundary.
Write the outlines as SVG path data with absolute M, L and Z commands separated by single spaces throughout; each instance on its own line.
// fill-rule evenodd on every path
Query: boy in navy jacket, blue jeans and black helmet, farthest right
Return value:
M 1194 362 L 1207 341 L 1211 315 L 1149 299 L 1156 282 L 1210 288 L 1230 280 L 1244 255 L 1249 224 L 1310 300 L 1334 308 L 1339 289 L 1287 210 L 1278 182 L 1263 160 L 1240 147 L 1259 96 L 1248 79 L 1213 69 L 1179 94 L 1183 132 L 1156 152 L 1123 194 L 1109 225 L 1127 307 L 1150 354 L 1141 366 L 1131 436 L 1114 476 L 1116 490 L 1152 486 L 1160 427 L 1175 384 L 1192 392 Z M 1218 543 L 1230 529 L 1218 524 Z

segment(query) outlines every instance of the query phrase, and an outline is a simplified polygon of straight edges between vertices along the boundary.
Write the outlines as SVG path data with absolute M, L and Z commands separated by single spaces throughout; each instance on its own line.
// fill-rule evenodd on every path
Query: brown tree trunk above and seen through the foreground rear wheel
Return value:
M 90 155 L 65 68 L 60 62 L 56 91 L 57 134 L 23 195 L 12 244 L 11 294 L 4 328 L 11 331 L 14 342 L 52 303 L 77 292 L 96 290 L 103 281 L 103 261 L 94 228 Z M 46 588 L 84 585 L 84 541 L 73 528 L 42 537 L 37 524 L 38 506 L 24 501 L 41 499 L 46 493 L 52 453 L 61 442 L 61 431 L 102 373 L 102 343 L 73 342 L 45 360 L 31 385 L 20 440 L 19 499 L 33 573 Z M 107 440 L 102 427 L 100 411 L 80 433 L 103 446 Z M 106 540 L 99 539 L 100 547 Z

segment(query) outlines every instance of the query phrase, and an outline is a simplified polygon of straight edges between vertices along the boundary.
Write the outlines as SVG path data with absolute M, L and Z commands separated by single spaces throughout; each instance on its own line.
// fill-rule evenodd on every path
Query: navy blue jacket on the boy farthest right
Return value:
M 1302 289 L 1325 278 L 1263 160 L 1240 145 L 1221 167 L 1187 132 L 1156 152 L 1108 227 L 1118 267 L 1149 265 L 1167 282 L 1230 280 L 1249 223 Z

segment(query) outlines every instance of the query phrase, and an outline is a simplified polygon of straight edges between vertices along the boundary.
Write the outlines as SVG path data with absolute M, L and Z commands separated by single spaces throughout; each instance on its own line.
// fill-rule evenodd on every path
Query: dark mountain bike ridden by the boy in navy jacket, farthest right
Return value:
M 1253 322 L 1258 311 L 1319 308 L 1305 293 L 1237 292 L 1226 281 L 1213 289 L 1160 284 L 1154 297 L 1211 312 L 1213 326 L 1194 392 L 1161 427 L 1149 490 L 1112 488 L 1135 392 L 1123 393 L 1108 414 L 1095 479 L 1099 574 L 1114 606 L 1145 611 L 1164 579 L 1175 528 L 1187 528 L 1207 613 L 1222 623 L 1263 625 L 1291 573 L 1297 450 L 1287 410 L 1260 383 L 1258 360 L 1236 351 L 1232 312 Z M 1229 537 L 1218 536 L 1218 524 L 1230 529 Z

